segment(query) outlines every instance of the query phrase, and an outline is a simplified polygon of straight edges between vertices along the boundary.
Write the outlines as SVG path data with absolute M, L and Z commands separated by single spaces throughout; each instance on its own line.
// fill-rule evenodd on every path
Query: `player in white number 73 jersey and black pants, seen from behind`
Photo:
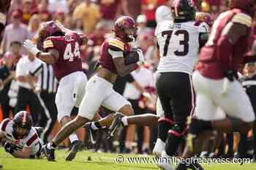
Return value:
M 208 39 L 209 26 L 195 23 L 195 7 L 190 0 L 175 0 L 171 5 L 173 21 L 157 25 L 158 50 L 157 93 L 165 116 L 159 120 L 158 142 L 162 156 L 173 156 L 187 133 L 187 117 L 195 110 L 192 71 L 200 47 Z M 158 146 L 157 146 L 158 145 Z M 159 164 L 172 169 L 170 164 Z

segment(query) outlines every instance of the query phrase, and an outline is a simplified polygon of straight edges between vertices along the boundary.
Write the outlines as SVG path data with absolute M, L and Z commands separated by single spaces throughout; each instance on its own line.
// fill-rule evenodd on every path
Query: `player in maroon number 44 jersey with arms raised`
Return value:
M 37 47 L 30 40 L 24 42 L 24 47 L 45 63 L 53 64 L 54 74 L 59 80 L 55 100 L 58 120 L 65 125 L 71 120 L 72 108 L 79 107 L 85 94 L 87 77 L 82 71 L 80 45 L 86 44 L 87 37 L 49 21 L 40 28 L 36 41 Z M 66 161 L 72 161 L 83 148 L 83 142 L 75 133 L 70 134 L 69 140 L 71 150 Z

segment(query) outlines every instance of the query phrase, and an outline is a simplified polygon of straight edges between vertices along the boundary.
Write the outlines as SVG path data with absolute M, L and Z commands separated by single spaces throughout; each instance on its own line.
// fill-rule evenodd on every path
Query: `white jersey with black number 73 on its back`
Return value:
M 195 26 L 195 21 L 173 23 L 165 20 L 159 23 L 155 31 L 161 57 L 157 72 L 192 74 L 199 55 L 200 33 L 209 31 L 206 23 Z

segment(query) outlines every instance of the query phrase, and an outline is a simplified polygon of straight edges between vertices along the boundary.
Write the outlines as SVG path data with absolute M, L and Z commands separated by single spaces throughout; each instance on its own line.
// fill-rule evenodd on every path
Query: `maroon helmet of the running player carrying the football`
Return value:
M 137 30 L 135 20 L 128 16 L 118 18 L 113 28 L 116 36 L 123 39 L 125 42 L 135 42 L 138 36 Z

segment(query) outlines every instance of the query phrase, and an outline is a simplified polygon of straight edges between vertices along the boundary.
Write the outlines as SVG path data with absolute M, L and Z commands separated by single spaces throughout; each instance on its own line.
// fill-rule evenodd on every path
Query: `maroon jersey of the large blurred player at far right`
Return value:
M 246 27 L 247 34 L 238 39 L 233 45 L 233 55 L 230 56 L 230 66 L 224 66 L 219 61 L 217 54 L 217 42 L 223 33 L 227 32 L 233 23 L 238 23 Z M 244 63 L 244 53 L 248 47 L 248 39 L 251 33 L 252 18 L 240 9 L 232 9 L 227 12 L 222 12 L 214 25 L 211 28 L 211 34 L 208 42 L 200 50 L 199 62 L 196 69 L 204 76 L 211 79 L 222 79 L 225 77 L 225 72 L 233 69 L 238 71 L 239 65 Z

